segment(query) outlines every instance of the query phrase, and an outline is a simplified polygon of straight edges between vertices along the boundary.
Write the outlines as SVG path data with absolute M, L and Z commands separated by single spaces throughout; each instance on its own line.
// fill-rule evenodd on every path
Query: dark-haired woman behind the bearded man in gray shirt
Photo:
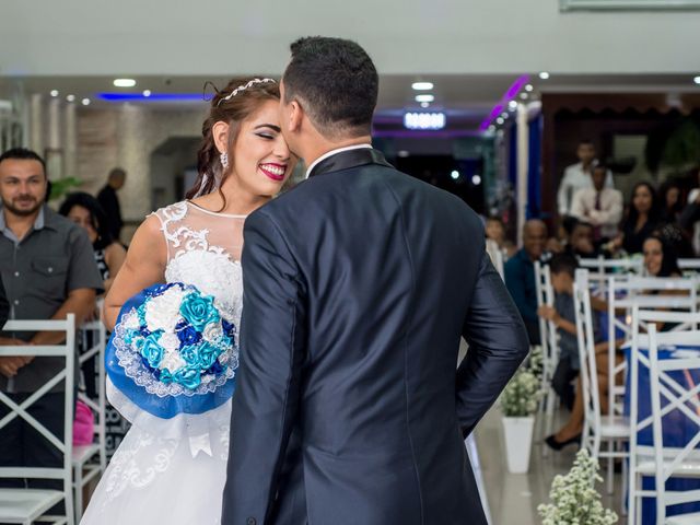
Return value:
M 126 259 L 127 250 L 112 236 L 100 202 L 92 195 L 78 191 L 66 198 L 58 212 L 88 232 L 102 275 L 103 288 L 105 293 L 108 292 Z

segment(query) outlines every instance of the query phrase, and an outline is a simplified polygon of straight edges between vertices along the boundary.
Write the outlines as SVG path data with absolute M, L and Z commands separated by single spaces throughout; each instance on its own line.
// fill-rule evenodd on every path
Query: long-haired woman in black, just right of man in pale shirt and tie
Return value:
M 632 201 L 622 222 L 622 233 L 612 242 L 616 249 L 628 254 L 641 254 L 642 244 L 658 228 L 656 191 L 649 183 L 638 183 L 632 189 Z

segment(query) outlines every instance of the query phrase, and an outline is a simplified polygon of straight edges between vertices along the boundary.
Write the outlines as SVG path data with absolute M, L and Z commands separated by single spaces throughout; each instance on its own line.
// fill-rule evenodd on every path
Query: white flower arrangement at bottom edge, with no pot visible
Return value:
M 576 454 L 573 467 L 565 476 L 557 476 L 551 483 L 551 503 L 537 508 L 542 525 L 611 525 L 617 523 L 617 514 L 603 509 L 600 494 L 595 490 L 598 462 L 582 448 Z

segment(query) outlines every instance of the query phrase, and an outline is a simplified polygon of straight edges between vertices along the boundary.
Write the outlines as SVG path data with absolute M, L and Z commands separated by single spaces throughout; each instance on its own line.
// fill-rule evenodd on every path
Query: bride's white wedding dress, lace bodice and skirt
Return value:
M 245 217 L 214 213 L 189 201 L 155 214 L 167 242 L 165 280 L 213 295 L 222 315 L 238 327 Z M 107 396 L 131 429 L 81 524 L 220 524 L 231 399 L 205 413 L 162 419 L 138 408 L 109 382 Z

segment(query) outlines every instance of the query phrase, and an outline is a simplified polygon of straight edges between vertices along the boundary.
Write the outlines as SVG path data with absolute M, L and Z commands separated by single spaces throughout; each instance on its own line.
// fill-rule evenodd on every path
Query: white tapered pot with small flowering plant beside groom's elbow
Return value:
M 501 395 L 508 470 L 527 472 L 535 412 L 541 398 L 541 381 L 530 368 L 521 368 Z

